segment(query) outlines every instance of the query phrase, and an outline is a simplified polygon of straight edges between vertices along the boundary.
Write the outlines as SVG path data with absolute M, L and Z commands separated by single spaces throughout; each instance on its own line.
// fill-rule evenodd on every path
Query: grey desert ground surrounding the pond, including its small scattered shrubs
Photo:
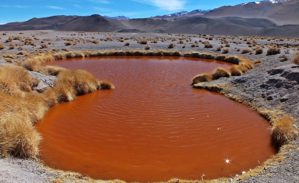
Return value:
M 248 70 L 242 76 L 222 77 L 214 81 L 195 84 L 193 87 L 216 91 L 238 102 L 245 103 L 269 119 L 271 124 L 274 124 L 275 120 L 282 116 L 291 116 L 294 118 L 295 124 L 299 126 L 299 67 L 292 63 L 295 53 L 299 52 L 299 38 L 171 33 L 60 32 L 52 30 L 1 31 L 0 37 L 0 45 L 4 45 L 3 49 L 0 50 L 0 66 L 17 66 L 27 56 L 37 54 L 82 50 L 178 50 L 181 53 L 196 51 L 217 55 L 222 53 L 228 56 L 237 55 L 251 61 L 261 59 L 259 63 L 254 64 L 253 69 Z M 16 40 L 14 38 L 9 40 L 9 37 L 15 37 Z M 26 38 L 29 45 L 25 44 Z M 7 39 L 8 41 L 6 41 Z M 147 39 L 147 44 L 142 43 L 144 39 Z M 202 44 L 204 41 L 209 41 L 213 47 L 206 48 L 205 44 Z M 175 45 L 173 48 L 170 47 L 171 43 Z M 267 50 L 277 43 L 280 45 L 280 53 L 267 55 Z M 286 44 L 289 44 L 289 48 L 286 47 Z M 221 45 L 223 47 L 218 48 Z M 229 50 L 224 52 L 223 49 L 225 48 Z M 258 48 L 262 48 L 262 53 L 256 54 Z M 249 52 L 244 53 L 244 49 L 249 49 Z M 30 71 L 30 74 L 41 81 L 34 88 L 34 92 L 43 92 L 46 88 L 53 86 L 57 78 L 34 71 Z M 190 78 L 191 83 L 192 78 Z M 239 175 L 229 177 L 227 182 L 298 182 L 298 144 L 298 138 L 283 144 L 279 153 L 272 159 L 264 164 L 261 162 L 261 166 L 251 172 L 243 175 L 240 172 Z M 0 164 L 0 182 L 92 181 L 78 173 L 45 167 L 38 159 L 2 157 Z

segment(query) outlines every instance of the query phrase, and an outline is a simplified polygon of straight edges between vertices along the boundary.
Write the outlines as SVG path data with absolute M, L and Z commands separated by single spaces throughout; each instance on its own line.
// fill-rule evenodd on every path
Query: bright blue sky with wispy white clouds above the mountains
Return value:
M 146 18 L 180 11 L 209 10 L 249 0 L 1 0 L 0 24 L 54 15 Z

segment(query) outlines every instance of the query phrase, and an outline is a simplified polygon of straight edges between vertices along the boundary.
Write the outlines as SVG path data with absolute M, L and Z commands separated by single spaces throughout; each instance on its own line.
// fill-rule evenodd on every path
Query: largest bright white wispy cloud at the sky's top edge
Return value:
M 168 1 L 161 1 L 161 0 L 130 0 L 139 3 L 149 4 L 152 6 L 159 7 L 163 10 L 181 10 L 184 9 L 186 1 L 180 0 L 168 0 Z

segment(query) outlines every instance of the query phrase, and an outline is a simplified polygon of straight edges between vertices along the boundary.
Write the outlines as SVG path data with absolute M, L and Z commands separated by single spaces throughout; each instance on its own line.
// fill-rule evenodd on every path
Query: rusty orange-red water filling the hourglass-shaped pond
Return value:
M 194 75 L 231 64 L 149 56 L 47 64 L 85 69 L 115 85 L 54 106 L 36 124 L 44 137 L 40 159 L 51 167 L 129 182 L 213 179 L 276 153 L 269 122 L 256 111 L 190 86 Z

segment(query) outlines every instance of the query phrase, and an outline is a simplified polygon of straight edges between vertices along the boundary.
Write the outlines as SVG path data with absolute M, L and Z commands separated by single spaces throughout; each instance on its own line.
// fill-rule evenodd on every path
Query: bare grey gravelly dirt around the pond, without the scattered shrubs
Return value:
M 117 39 L 120 37 L 130 38 L 131 36 L 146 37 L 146 38 L 155 38 L 155 37 L 164 37 L 164 38 L 181 38 L 182 36 L 168 35 L 168 34 L 155 34 L 155 33 L 76 33 L 76 32 L 54 32 L 51 30 L 48 31 L 22 31 L 24 34 L 19 34 L 19 31 L 6 32 L 7 35 L 2 35 L 4 32 L 0 32 L 0 44 L 6 46 L 5 49 L 0 50 L 0 54 L 10 53 L 16 55 L 20 50 L 16 48 L 9 49 L 11 43 L 18 44 L 22 43 L 20 41 L 14 40 L 13 42 L 5 43 L 4 41 L 9 36 L 25 36 L 31 37 L 36 35 L 36 38 L 40 40 L 33 40 L 36 42 L 37 46 L 28 46 L 24 45 L 22 51 L 41 51 L 41 50 L 53 50 L 57 49 L 59 52 L 62 51 L 62 48 L 68 48 L 71 51 L 79 50 L 144 50 L 146 45 L 137 43 L 132 39 L 125 40 L 125 42 L 120 42 Z M 76 35 L 71 35 L 76 34 Z M 81 35 L 83 34 L 83 35 Z M 94 38 L 92 38 L 94 36 Z M 180 50 L 181 52 L 188 51 L 199 51 L 199 52 L 209 52 L 215 54 L 221 54 L 221 52 L 216 50 L 216 47 L 220 45 L 220 39 L 209 40 L 213 44 L 213 48 L 205 48 L 203 44 L 199 43 L 199 47 L 191 47 L 191 42 L 194 41 L 207 41 L 206 39 L 193 37 L 199 35 L 184 35 L 191 36 L 192 41 L 184 43 L 186 44 L 185 48 L 183 44 L 177 44 L 177 41 L 167 40 L 164 42 L 158 41 L 158 43 L 150 43 L 148 41 L 147 45 L 151 45 L 150 50 L 165 49 L 168 50 L 168 45 L 170 43 L 175 43 L 176 47 L 171 50 Z M 114 41 L 100 41 L 100 39 L 106 39 L 110 37 Z M 217 36 L 214 36 L 217 37 Z M 223 36 L 221 36 L 223 37 Z M 60 40 L 57 40 L 60 38 Z M 93 43 L 83 43 L 80 42 L 76 45 L 65 45 L 65 40 L 63 38 L 82 38 L 82 39 L 99 39 L 99 44 Z M 51 42 L 48 44 L 49 48 L 42 49 L 39 46 L 40 41 L 47 39 L 49 41 L 44 41 L 45 43 Z M 263 49 L 263 53 L 256 55 L 246 53 L 241 54 L 241 51 L 237 51 L 237 48 L 240 50 L 248 48 L 246 41 L 243 41 L 242 36 L 235 39 L 226 39 L 229 44 L 229 52 L 227 55 L 239 55 L 250 60 L 262 59 L 260 64 L 256 64 L 254 69 L 249 70 L 243 76 L 235 76 L 231 78 L 221 78 L 215 81 L 197 84 L 194 87 L 205 88 L 208 90 L 214 90 L 224 94 L 227 97 L 230 97 L 239 102 L 250 105 L 254 109 L 264 116 L 268 117 L 271 115 L 271 119 L 274 119 L 276 116 L 281 115 L 291 115 L 295 118 L 297 126 L 299 126 L 298 121 L 298 96 L 299 96 L 299 68 L 291 62 L 292 57 L 297 52 L 297 48 L 289 48 L 289 53 L 285 53 L 286 48 L 281 48 L 281 53 L 277 55 L 266 56 L 266 51 L 268 47 L 266 46 Z M 257 45 L 261 44 L 270 44 L 277 43 L 274 40 L 267 41 L 267 39 L 254 39 L 257 41 Z M 237 42 L 235 44 L 233 42 Z M 130 46 L 124 46 L 124 43 L 130 42 Z M 239 44 L 240 42 L 240 44 Z M 298 45 L 297 39 L 285 39 L 284 41 L 279 41 L 279 44 L 290 43 L 291 45 Z M 252 48 L 252 47 L 250 47 Z M 33 54 L 32 54 L 33 55 Z M 19 56 L 17 59 L 14 59 L 12 63 L 8 63 L 5 58 L 0 57 L 1 64 L 15 64 L 17 62 L 22 62 L 25 59 L 25 56 Z M 275 66 L 274 66 L 275 65 Z M 42 91 L 47 87 L 51 87 L 55 82 L 55 76 L 46 76 L 36 72 L 30 72 L 31 75 L 38 77 L 41 80 L 41 83 L 36 88 L 36 91 Z M 190 78 L 190 83 L 191 83 Z M 249 176 L 245 179 L 238 179 L 238 176 L 232 177 L 230 182 L 299 182 L 299 141 L 298 139 L 292 142 L 285 148 L 281 149 L 279 161 L 271 163 L 270 165 L 262 167 L 261 172 L 258 176 Z M 244 144 L 246 145 L 246 144 Z M 245 158 L 245 157 L 244 157 Z M 22 160 L 14 158 L 3 158 L 0 159 L 0 182 L 51 182 L 52 178 L 59 178 L 60 173 L 57 171 L 43 167 L 38 160 Z M 240 172 L 240 174 L 242 174 Z M 64 181 L 72 182 L 76 181 L 75 177 L 68 177 Z

